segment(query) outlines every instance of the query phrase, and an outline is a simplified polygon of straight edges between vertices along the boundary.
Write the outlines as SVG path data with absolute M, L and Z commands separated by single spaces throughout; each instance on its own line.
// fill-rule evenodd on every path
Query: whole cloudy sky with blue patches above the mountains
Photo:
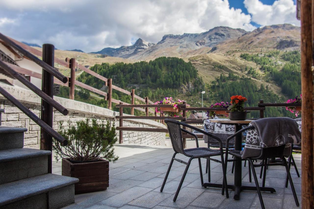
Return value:
M 92 52 L 216 26 L 246 31 L 300 26 L 295 13 L 295 0 L 1 0 L 0 32 L 28 43 Z

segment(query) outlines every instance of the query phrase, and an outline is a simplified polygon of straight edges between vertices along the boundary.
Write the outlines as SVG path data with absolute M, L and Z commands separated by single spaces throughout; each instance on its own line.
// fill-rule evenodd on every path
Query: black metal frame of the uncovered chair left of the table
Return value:
M 198 159 L 198 165 L 199 165 L 199 171 L 200 171 L 200 177 L 201 177 L 201 184 L 202 184 L 202 186 L 203 186 L 203 183 L 204 183 L 204 182 L 203 182 L 203 173 L 202 173 L 202 165 L 201 165 L 201 159 L 200 159 L 200 158 L 206 158 L 207 160 L 213 160 L 213 161 L 215 161 L 215 162 L 221 163 L 221 165 L 222 165 L 222 170 L 223 170 L 223 185 L 225 185 L 226 197 L 229 198 L 229 193 L 228 193 L 228 189 L 227 189 L 227 178 L 226 178 L 226 171 L 225 171 L 225 163 L 224 163 L 224 152 L 223 152 L 221 140 L 220 140 L 218 137 L 213 136 L 213 135 L 211 135 L 211 134 L 209 134 L 209 133 L 207 133 L 207 132 L 205 132 L 205 131 L 203 131 L 203 130 L 201 130 L 201 129 L 198 129 L 198 128 L 194 127 L 194 126 L 190 126 L 190 125 L 188 125 L 188 124 L 186 124 L 186 123 L 182 123 L 182 122 L 180 122 L 180 121 L 176 121 L 176 120 L 172 120 L 172 119 L 165 119 L 165 123 L 167 124 L 168 131 L 169 131 L 169 135 L 170 135 L 170 139 L 171 139 L 171 143 L 172 143 L 172 145 L 173 145 L 173 149 L 174 149 L 175 153 L 173 154 L 173 156 L 172 156 L 172 158 L 171 158 L 171 161 L 170 161 L 170 164 L 169 164 L 167 173 L 166 173 L 166 175 L 165 175 L 165 179 L 164 179 L 164 181 L 163 181 L 163 183 L 162 183 L 162 186 L 161 186 L 161 188 L 160 188 L 160 192 L 162 192 L 163 189 L 164 189 L 164 187 L 165 187 L 165 183 L 166 183 L 166 181 L 167 181 L 167 178 L 168 178 L 168 175 L 169 175 L 169 173 L 170 173 L 171 166 L 172 166 L 172 163 L 173 163 L 174 160 L 178 161 L 179 163 L 183 163 L 183 164 L 186 164 L 186 165 L 187 165 L 186 168 L 185 168 L 185 170 L 184 170 L 184 173 L 183 173 L 183 175 L 182 175 L 182 178 L 181 178 L 181 181 L 180 181 L 180 183 L 179 183 L 179 186 L 178 186 L 178 188 L 177 188 L 177 190 L 176 190 L 176 194 L 175 194 L 175 196 L 174 196 L 174 198 L 173 198 L 173 201 L 174 201 L 174 202 L 176 201 L 177 196 L 178 196 L 178 194 L 179 194 L 179 192 L 180 192 L 181 186 L 182 186 L 182 184 L 183 184 L 183 181 L 184 181 L 184 179 L 185 179 L 185 176 L 186 176 L 186 174 L 187 174 L 187 171 L 188 171 L 188 169 L 189 169 L 189 166 L 190 166 L 190 164 L 191 164 L 192 159 Z M 176 137 L 180 137 L 180 140 L 178 140 L 178 142 L 179 142 L 178 144 L 174 144 L 175 139 L 173 139 L 173 138 L 172 138 L 172 135 L 171 135 L 171 134 L 172 134 L 171 132 L 172 132 L 173 130 L 171 130 L 171 128 L 168 126 L 169 123 L 170 123 L 170 124 L 176 124 L 176 125 L 177 125 L 177 128 L 179 129 L 179 130 L 177 130 L 177 131 L 178 131 L 177 133 L 179 133 L 179 136 L 176 136 Z M 212 138 L 216 139 L 216 140 L 219 142 L 220 151 L 218 151 L 217 154 L 209 153 L 209 154 L 207 154 L 207 155 L 206 155 L 206 154 L 203 154 L 203 155 L 190 155 L 190 154 L 187 154 L 185 151 L 187 151 L 187 150 L 189 150 L 189 149 L 183 149 L 183 142 L 182 142 L 181 131 L 183 131 L 183 132 L 185 132 L 185 133 L 187 133 L 187 134 L 189 134 L 189 135 L 191 135 L 191 136 L 193 136 L 193 137 L 195 138 L 196 148 L 204 148 L 205 150 L 208 150 L 209 152 L 210 152 L 210 149 L 207 148 L 207 147 L 199 147 L 199 146 L 198 146 L 198 138 L 197 138 L 197 136 L 196 136 L 195 134 L 193 134 L 192 132 L 187 131 L 187 130 L 181 128 L 181 126 L 191 128 L 191 129 L 193 129 L 193 130 L 199 131 L 199 132 L 201 132 L 201 133 L 203 133 L 203 134 L 205 134 L 205 135 L 208 135 L 209 137 L 212 137 Z M 177 146 L 177 145 L 178 145 L 178 146 Z M 179 148 L 179 149 L 178 149 L 178 148 Z M 194 148 L 194 149 L 196 149 L 196 148 Z M 201 149 L 198 149 L 198 150 L 201 150 Z M 176 154 L 178 154 L 178 153 L 181 153 L 181 154 L 183 154 L 183 155 L 185 155 L 185 156 L 187 156 L 187 157 L 190 157 L 190 159 L 188 160 L 188 162 L 185 162 L 185 161 L 183 161 L 183 160 L 180 160 L 180 159 L 175 158 Z M 221 161 L 220 161 L 220 160 L 217 160 L 217 159 L 210 158 L 210 157 L 219 156 L 219 155 L 220 155 L 220 157 L 221 157 Z M 222 186 L 222 187 L 223 187 L 223 186 Z M 206 187 L 205 187 L 205 188 L 206 188 Z M 224 195 L 224 191 L 222 191 L 221 194 Z

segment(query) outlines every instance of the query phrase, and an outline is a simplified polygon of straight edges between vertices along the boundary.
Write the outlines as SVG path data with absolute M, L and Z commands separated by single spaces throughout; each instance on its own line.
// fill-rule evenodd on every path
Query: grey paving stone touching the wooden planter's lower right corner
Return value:
M 133 186 L 137 186 L 141 183 L 143 183 L 143 181 L 132 180 L 132 179 L 121 180 L 121 179 L 113 179 L 109 177 L 109 187 L 107 188 L 107 190 L 110 192 L 120 193 L 122 191 L 132 188 Z

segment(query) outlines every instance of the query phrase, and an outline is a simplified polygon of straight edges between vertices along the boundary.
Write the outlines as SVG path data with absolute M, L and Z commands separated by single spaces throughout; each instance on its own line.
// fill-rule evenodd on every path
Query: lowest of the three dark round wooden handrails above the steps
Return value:
M 0 87 L 0 94 L 2 94 L 5 98 L 7 98 L 13 105 L 15 105 L 19 110 L 21 110 L 25 115 L 27 115 L 32 121 L 34 121 L 37 125 L 39 125 L 42 129 L 44 129 L 49 135 L 54 137 L 58 142 L 62 144 L 62 146 L 66 146 L 68 141 L 63 138 L 57 131 L 53 130 L 50 126 L 48 126 L 44 121 L 42 121 L 37 115 L 35 115 L 32 111 L 26 108 L 22 103 L 20 103 L 17 99 L 15 99 L 11 94 L 9 94 L 6 90 Z

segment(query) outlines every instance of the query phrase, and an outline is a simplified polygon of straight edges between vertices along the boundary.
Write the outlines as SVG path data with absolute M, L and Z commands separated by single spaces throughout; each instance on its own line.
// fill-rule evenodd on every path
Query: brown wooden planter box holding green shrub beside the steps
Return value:
M 109 161 L 99 158 L 97 162 L 71 163 L 62 158 L 62 175 L 79 179 L 75 194 L 105 190 L 109 186 Z

